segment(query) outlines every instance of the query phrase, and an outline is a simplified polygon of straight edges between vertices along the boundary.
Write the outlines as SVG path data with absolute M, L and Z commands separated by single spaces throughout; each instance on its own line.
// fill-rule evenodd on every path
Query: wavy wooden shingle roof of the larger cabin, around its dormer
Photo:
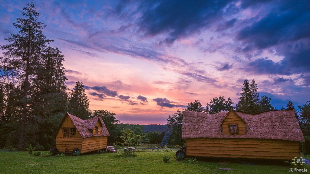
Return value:
M 183 112 L 182 139 L 186 138 L 260 138 L 305 142 L 294 110 L 268 111 L 259 114 L 236 112 L 246 123 L 245 135 L 224 135 L 221 127 L 228 112 L 205 114 Z

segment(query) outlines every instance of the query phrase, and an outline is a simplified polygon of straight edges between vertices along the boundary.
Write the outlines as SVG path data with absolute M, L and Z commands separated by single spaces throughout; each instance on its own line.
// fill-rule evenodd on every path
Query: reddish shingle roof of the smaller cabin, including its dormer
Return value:
M 77 128 L 78 132 L 81 134 L 82 138 L 87 137 L 99 137 L 99 136 L 110 136 L 108 129 L 105 127 L 105 124 L 101 117 L 93 117 L 87 120 L 82 120 L 74 115 L 69 114 L 68 112 L 64 115 L 63 119 L 61 120 L 61 123 L 59 125 L 59 128 L 55 135 L 57 135 L 58 131 L 61 128 L 61 125 L 63 124 L 64 120 L 66 119 L 66 116 L 69 116 L 72 120 L 74 126 Z M 95 125 L 99 121 L 100 123 L 100 134 L 93 134 L 93 129 L 95 128 Z

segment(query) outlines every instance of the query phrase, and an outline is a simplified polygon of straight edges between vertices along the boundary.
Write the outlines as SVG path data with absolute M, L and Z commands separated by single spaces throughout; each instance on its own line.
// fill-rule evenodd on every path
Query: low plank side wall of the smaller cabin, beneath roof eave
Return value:
M 83 139 L 81 153 L 91 152 L 106 148 L 108 145 L 108 137 L 88 137 Z

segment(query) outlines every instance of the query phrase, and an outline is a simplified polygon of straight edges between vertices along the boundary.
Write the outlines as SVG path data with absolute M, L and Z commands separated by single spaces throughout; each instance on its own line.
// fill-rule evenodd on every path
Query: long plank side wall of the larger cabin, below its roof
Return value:
M 188 138 L 187 156 L 285 159 L 300 156 L 299 142 L 255 138 Z

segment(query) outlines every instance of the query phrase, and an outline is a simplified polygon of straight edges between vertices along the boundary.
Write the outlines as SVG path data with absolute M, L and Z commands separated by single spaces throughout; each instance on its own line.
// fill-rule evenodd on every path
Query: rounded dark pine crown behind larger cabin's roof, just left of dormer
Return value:
M 209 103 L 207 103 L 205 107 L 205 112 L 208 114 L 216 114 L 221 111 L 229 111 L 230 109 L 235 110 L 235 107 L 232 106 L 234 102 L 230 98 L 228 98 L 226 101 L 224 96 L 219 96 L 219 98 L 212 98 Z

